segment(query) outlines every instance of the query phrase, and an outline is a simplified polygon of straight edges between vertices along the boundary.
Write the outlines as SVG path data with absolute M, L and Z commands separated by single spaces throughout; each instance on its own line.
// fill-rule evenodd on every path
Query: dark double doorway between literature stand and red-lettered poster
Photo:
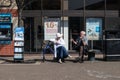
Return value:
M 41 25 L 35 25 L 34 17 L 26 17 L 24 20 L 25 27 L 25 53 L 39 53 L 43 41 Z

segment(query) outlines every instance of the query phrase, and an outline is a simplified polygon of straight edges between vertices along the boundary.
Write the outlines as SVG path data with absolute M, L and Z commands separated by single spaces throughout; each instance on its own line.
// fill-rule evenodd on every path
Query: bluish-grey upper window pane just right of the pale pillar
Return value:
M 83 10 L 84 0 L 68 0 L 69 10 Z

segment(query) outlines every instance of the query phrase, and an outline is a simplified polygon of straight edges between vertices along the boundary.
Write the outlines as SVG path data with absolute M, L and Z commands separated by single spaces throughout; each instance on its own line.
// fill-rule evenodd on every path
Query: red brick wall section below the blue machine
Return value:
M 13 56 L 14 55 L 14 41 L 11 44 L 0 44 L 0 56 Z

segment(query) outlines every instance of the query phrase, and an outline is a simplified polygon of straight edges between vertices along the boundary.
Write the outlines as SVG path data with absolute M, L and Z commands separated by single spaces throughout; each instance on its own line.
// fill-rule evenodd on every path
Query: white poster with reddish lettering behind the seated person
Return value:
M 44 40 L 50 40 L 55 38 L 58 28 L 60 26 L 59 18 L 47 18 L 44 19 Z

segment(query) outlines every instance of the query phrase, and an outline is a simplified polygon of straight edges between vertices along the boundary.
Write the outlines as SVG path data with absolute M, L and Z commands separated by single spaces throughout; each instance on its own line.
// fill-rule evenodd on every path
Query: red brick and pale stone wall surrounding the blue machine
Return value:
M 2 4 L 1 4 L 2 3 Z M 10 5 L 10 0 L 0 0 L 1 5 Z M 18 22 L 18 13 L 17 13 L 17 4 L 15 0 L 12 0 L 12 4 L 9 7 L 1 7 L 1 13 L 11 13 L 12 14 L 12 23 L 13 29 L 17 27 Z M 0 56 L 13 56 L 14 55 L 14 41 L 11 44 L 0 44 Z

